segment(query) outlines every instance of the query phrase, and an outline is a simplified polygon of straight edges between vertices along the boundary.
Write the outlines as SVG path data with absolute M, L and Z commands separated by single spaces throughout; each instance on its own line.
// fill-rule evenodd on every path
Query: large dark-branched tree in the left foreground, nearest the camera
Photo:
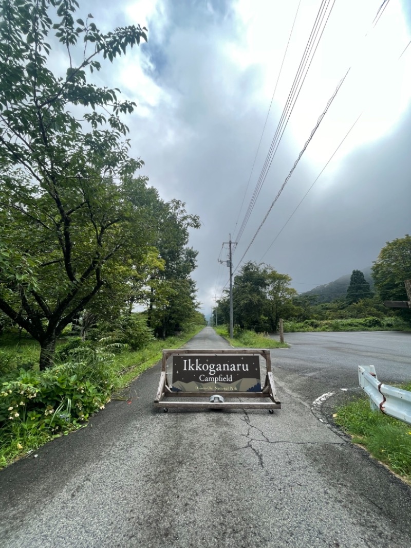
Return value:
M 75 21 L 77 8 L 76 0 L 0 5 L 0 310 L 39 341 L 41 369 L 113 262 L 130 254 L 138 262 L 148 247 L 124 184 L 142 164 L 124 139 L 122 116 L 135 105 L 85 72 L 139 44 L 146 29 L 104 34 L 91 14 Z M 49 68 L 53 31 L 66 52 L 62 76 Z

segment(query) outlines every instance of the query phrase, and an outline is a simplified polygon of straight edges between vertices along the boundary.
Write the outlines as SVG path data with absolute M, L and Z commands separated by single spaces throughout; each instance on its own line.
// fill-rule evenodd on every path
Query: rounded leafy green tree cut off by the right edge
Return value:
M 407 301 L 404 282 L 411 279 L 411 236 L 406 234 L 403 238 L 387 242 L 373 263 L 372 273 L 383 301 Z M 398 313 L 404 318 L 410 316 L 408 310 L 399 310 Z

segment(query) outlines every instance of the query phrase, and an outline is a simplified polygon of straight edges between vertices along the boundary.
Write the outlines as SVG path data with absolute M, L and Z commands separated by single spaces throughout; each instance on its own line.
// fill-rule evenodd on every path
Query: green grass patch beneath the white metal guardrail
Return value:
M 401 388 L 411 391 L 411 383 Z M 411 425 L 371 409 L 368 398 L 336 408 L 334 421 L 353 443 L 411 483 Z

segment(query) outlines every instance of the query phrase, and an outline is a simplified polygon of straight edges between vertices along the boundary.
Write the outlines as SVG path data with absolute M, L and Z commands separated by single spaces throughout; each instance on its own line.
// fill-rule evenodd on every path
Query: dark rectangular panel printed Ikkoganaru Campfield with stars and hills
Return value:
M 173 391 L 260 392 L 258 355 L 173 356 Z

